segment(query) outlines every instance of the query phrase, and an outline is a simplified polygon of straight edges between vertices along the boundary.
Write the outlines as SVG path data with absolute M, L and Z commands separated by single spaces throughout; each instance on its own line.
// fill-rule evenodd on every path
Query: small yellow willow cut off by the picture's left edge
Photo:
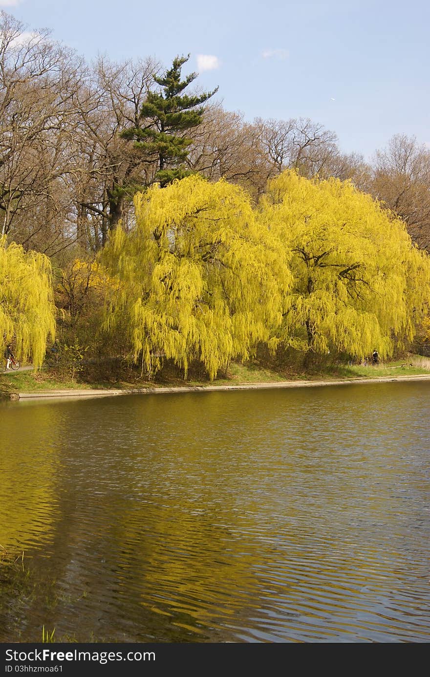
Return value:
M 0 238 L 0 337 L 21 362 L 41 366 L 56 331 L 51 263 L 37 252 Z

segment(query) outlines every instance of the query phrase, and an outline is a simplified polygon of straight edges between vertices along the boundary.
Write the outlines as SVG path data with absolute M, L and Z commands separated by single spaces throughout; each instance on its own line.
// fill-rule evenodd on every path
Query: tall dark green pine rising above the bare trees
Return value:
M 123 137 L 133 139 L 135 147 L 158 164 L 155 178 L 162 188 L 192 173 L 184 165 L 192 142 L 186 131 L 200 125 L 205 113 L 202 104 L 218 91 L 217 87 L 200 95 L 183 93 L 198 75 L 192 72 L 181 80 L 181 68 L 189 58 L 190 54 L 177 56 L 162 77 L 154 76 L 160 90 L 148 92 L 140 110 L 142 126 L 123 132 Z

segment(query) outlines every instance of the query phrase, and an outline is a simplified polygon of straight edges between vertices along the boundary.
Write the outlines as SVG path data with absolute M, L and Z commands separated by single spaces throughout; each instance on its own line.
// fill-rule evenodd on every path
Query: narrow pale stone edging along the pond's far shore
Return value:
M 389 383 L 391 381 L 430 380 L 430 374 L 419 376 L 379 376 L 377 378 L 343 378 L 342 380 L 294 380 L 275 381 L 273 383 L 243 383 L 238 385 L 196 385 L 178 387 L 148 387 L 133 389 L 76 389 L 76 390 L 51 390 L 37 393 L 18 393 L 16 399 L 53 399 L 56 397 L 108 397 L 111 395 L 154 395 L 158 393 L 196 393 L 216 390 L 256 390 L 264 388 L 305 388 L 326 385 L 355 385 L 356 383 Z

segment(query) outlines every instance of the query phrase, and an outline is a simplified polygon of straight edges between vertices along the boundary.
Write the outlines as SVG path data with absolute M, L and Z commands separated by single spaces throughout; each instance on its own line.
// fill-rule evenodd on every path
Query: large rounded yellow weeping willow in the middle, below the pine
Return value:
M 249 357 L 282 322 L 291 274 L 247 194 L 192 176 L 137 194 L 135 214 L 135 230 L 118 228 L 102 253 L 119 281 L 106 328 L 127 326 L 148 372 L 162 356 L 185 370 L 197 358 L 214 378 L 233 357 Z

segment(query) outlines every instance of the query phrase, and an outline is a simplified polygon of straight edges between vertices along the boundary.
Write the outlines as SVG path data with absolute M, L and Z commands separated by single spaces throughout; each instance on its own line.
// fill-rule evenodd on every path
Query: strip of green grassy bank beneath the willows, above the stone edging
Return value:
M 387 376 L 418 376 L 430 374 L 430 359 L 421 355 L 407 355 L 403 359 L 386 362 L 378 366 L 325 363 L 308 368 L 306 371 L 292 368 L 268 368 L 258 362 L 232 362 L 228 370 L 216 378 L 211 385 L 244 385 L 251 383 L 277 383 L 282 381 L 330 381 L 353 380 L 355 378 L 380 378 Z M 175 387 L 209 385 L 207 378 L 196 374 L 184 379 L 174 372 L 160 372 L 153 380 L 144 380 L 128 371 L 119 377 L 84 378 L 79 380 L 61 378 L 55 371 L 44 368 L 39 372 L 19 371 L 0 374 L 0 395 L 9 397 L 13 393 L 44 393 L 53 390 L 85 389 L 134 389 L 144 387 Z

